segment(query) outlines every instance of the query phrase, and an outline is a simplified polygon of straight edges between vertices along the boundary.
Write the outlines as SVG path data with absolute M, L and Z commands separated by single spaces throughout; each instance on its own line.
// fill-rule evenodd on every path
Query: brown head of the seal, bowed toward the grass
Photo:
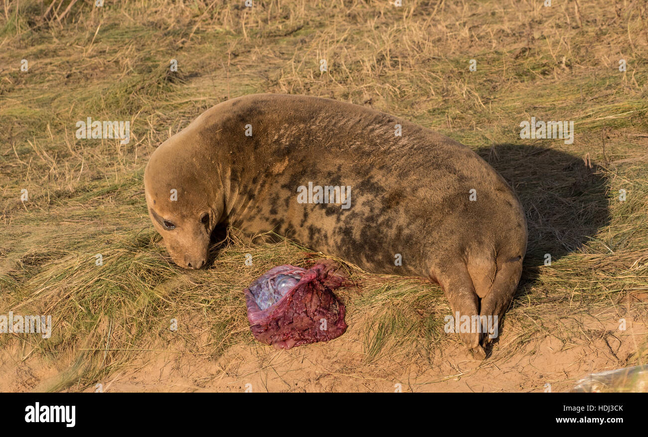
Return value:
M 161 144 L 146 165 L 144 187 L 148 214 L 173 261 L 185 269 L 200 269 L 207 263 L 209 237 L 223 212 L 218 207 L 222 190 L 208 180 L 207 167 L 213 160 L 191 146 L 181 133 Z

